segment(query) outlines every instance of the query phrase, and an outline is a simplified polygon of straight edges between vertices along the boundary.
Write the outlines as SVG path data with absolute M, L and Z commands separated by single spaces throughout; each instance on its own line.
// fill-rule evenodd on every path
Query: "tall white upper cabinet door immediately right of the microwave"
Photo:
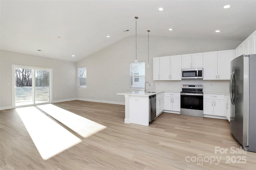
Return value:
M 217 51 L 203 53 L 203 79 L 217 79 Z

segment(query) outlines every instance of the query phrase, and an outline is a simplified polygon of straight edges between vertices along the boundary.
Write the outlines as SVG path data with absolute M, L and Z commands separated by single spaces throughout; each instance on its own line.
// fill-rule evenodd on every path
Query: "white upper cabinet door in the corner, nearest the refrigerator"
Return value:
M 218 51 L 218 80 L 230 80 L 230 62 L 234 53 L 234 49 Z

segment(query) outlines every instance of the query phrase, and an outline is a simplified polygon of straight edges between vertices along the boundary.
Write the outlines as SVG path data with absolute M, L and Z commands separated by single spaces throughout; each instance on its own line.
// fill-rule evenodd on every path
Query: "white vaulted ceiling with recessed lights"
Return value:
M 68 61 L 135 35 L 135 16 L 138 35 L 242 41 L 256 30 L 255 0 L 1 0 L 0 9 L 1 49 Z

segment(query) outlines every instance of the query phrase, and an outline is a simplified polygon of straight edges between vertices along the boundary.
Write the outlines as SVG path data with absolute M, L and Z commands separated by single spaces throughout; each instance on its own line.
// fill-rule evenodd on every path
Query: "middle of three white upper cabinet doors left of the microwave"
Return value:
M 160 80 L 170 80 L 170 56 L 160 57 Z

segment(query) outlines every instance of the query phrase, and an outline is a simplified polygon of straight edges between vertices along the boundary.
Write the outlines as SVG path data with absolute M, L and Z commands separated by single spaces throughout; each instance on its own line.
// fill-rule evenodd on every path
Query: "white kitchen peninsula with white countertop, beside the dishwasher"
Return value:
M 163 93 L 163 91 L 128 91 L 124 93 L 117 93 L 117 95 L 124 95 L 125 97 L 124 123 L 135 123 L 138 125 L 148 126 L 150 121 L 149 96 L 156 95 L 158 93 Z

